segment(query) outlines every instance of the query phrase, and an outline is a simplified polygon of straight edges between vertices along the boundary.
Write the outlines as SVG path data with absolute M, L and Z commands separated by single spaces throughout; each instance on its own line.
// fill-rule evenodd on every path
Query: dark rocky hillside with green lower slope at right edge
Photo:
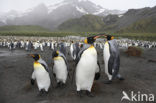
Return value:
M 156 29 L 156 26 L 152 26 L 155 18 L 156 6 L 152 8 L 130 9 L 116 22 L 115 30 L 120 31 L 126 29 L 125 31 L 127 31 L 127 28 L 129 28 L 131 32 L 133 30 L 142 32 L 143 29 L 146 29 L 146 32 L 153 32 L 153 30 Z M 149 29 L 151 26 L 153 30 Z

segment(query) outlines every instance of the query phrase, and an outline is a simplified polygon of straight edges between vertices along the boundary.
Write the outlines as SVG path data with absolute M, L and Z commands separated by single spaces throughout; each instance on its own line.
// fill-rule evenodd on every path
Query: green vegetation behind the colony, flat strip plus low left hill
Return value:
M 20 30 L 19 30 L 19 28 Z M 3 28 L 3 29 L 2 29 Z M 5 29 L 4 29 L 5 28 Z M 16 29 L 14 29 L 16 28 Z M 21 29 L 25 28 L 25 29 Z M 27 29 L 26 29 L 27 28 Z M 64 36 L 90 36 L 104 32 L 51 32 L 48 29 L 44 29 L 39 26 L 4 26 L 0 27 L 0 36 L 43 36 L 43 37 L 64 37 Z M 116 38 L 130 38 L 141 40 L 155 40 L 156 33 L 112 33 L 107 34 L 114 35 Z

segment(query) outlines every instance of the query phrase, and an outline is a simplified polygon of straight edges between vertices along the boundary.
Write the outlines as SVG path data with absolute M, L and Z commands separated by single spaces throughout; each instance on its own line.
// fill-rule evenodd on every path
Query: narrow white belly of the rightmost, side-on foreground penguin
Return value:
M 105 73 L 107 74 L 108 79 L 111 80 L 112 75 L 109 74 L 108 72 L 108 63 L 109 63 L 109 58 L 110 58 L 110 50 L 109 50 L 108 42 L 106 42 L 104 45 L 103 56 L 104 56 L 104 62 L 105 62 Z

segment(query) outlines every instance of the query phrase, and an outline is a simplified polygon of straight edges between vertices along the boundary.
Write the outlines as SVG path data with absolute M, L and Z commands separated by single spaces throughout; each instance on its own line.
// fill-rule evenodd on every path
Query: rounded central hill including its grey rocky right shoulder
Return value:
M 111 18 L 111 19 L 110 19 Z M 58 26 L 62 31 L 104 31 L 108 24 L 114 24 L 118 19 L 116 15 L 100 17 L 95 15 L 84 15 L 81 18 L 70 19 Z

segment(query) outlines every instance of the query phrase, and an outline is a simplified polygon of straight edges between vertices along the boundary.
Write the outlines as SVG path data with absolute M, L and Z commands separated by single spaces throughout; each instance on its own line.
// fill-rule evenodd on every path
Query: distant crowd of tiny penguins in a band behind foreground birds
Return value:
M 72 40 L 70 40 L 72 39 Z M 65 45 L 70 46 L 70 50 L 73 48 L 77 47 L 77 44 L 73 43 L 78 42 L 80 43 L 82 40 L 80 40 L 80 37 L 64 37 L 63 40 L 66 41 Z M 58 44 L 60 43 L 61 40 L 58 38 L 56 39 L 45 39 L 45 40 L 40 40 L 40 39 L 16 39 L 15 37 L 8 37 L 8 38 L 0 38 L 0 48 L 8 48 L 9 50 L 16 50 L 16 49 L 24 49 L 26 51 L 31 51 L 31 50 L 37 50 L 40 49 L 42 52 L 44 52 L 45 47 L 49 47 L 49 49 L 54 50 L 54 48 L 58 47 Z M 142 40 L 131 40 L 127 38 L 120 38 L 116 39 L 117 44 L 119 45 L 119 48 L 128 48 L 129 46 L 136 46 L 136 47 L 141 47 L 141 48 L 156 48 L 156 42 L 153 41 L 142 41 Z M 73 44 L 75 45 L 73 47 Z M 95 47 L 100 47 L 100 49 L 104 48 L 104 42 L 99 41 L 94 43 Z M 75 49 L 73 49 L 75 50 Z M 76 51 L 73 51 L 72 58 L 75 58 Z

